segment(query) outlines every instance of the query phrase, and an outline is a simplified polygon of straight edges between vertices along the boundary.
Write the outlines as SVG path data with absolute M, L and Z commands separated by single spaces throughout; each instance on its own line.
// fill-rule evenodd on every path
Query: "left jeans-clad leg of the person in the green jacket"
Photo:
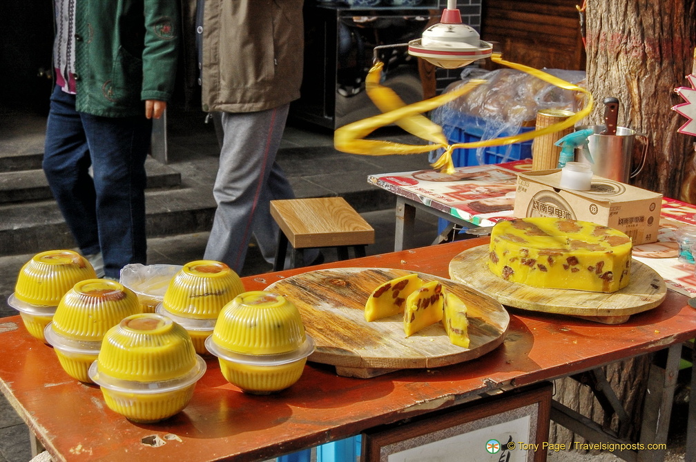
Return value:
M 100 251 L 96 195 L 87 139 L 75 97 L 56 87 L 46 126 L 42 167 L 58 208 L 84 255 Z

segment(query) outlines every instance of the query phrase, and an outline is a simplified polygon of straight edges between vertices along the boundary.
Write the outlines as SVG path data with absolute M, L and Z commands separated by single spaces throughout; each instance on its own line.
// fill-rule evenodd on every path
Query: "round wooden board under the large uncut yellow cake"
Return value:
M 489 246 L 472 247 L 450 261 L 450 277 L 473 286 L 498 302 L 523 310 L 583 317 L 620 324 L 628 317 L 655 308 L 667 296 L 664 279 L 651 267 L 633 260 L 631 282 L 612 293 L 545 289 L 505 281 L 488 267 Z

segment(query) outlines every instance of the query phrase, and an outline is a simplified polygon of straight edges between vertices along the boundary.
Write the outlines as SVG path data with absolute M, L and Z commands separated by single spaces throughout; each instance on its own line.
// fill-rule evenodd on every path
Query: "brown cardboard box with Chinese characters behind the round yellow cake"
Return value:
M 656 242 L 661 194 L 602 176 L 592 176 L 589 191 L 569 190 L 560 179 L 558 169 L 519 174 L 514 216 L 583 220 L 618 229 L 633 245 Z

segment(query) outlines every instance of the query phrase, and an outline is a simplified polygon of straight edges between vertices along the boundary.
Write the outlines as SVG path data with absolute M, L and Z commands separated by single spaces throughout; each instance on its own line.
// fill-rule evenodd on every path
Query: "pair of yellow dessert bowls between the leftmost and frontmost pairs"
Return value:
M 141 313 L 138 297 L 108 279 L 87 279 L 68 290 L 44 331 L 63 370 L 89 383 L 89 366 L 97 359 L 102 338 L 124 317 Z

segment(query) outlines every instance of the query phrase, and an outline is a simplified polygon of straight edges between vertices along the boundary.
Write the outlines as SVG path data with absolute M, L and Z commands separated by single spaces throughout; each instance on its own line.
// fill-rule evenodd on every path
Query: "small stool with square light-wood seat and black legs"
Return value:
M 374 244 L 374 229 L 342 197 L 313 197 L 271 201 L 271 216 L 280 226 L 274 270 L 285 267 L 287 244 L 291 267 L 301 267 L 304 249 L 335 247 L 339 260 L 347 260 L 348 248 L 365 256 L 365 246 Z M 310 262 L 307 262 L 310 263 Z

